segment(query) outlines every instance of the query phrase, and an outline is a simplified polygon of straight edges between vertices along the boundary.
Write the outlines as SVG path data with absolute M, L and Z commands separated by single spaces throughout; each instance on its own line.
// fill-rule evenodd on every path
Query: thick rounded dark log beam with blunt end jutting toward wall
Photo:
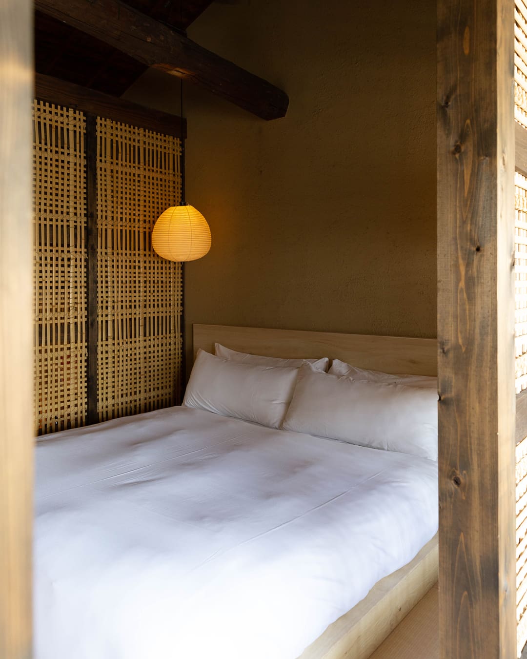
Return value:
M 149 67 L 191 80 L 262 119 L 284 117 L 287 94 L 121 0 L 36 0 L 36 9 Z

